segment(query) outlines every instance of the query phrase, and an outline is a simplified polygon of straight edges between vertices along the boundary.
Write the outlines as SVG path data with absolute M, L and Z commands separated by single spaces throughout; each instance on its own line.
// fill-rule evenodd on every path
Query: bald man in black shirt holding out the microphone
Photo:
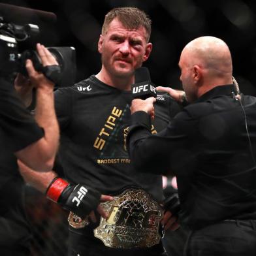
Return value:
M 184 255 L 256 255 L 256 98 L 240 94 L 221 39 L 192 40 L 179 66 L 191 104 L 154 136 L 155 99 L 135 99 L 127 136 L 131 161 L 136 170 L 159 173 L 160 167 L 176 175 L 180 221 L 191 228 Z

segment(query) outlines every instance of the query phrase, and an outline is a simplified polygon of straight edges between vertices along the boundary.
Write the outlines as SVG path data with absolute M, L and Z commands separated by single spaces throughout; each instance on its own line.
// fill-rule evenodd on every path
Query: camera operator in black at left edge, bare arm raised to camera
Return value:
M 44 67 L 57 65 L 48 50 L 37 44 Z M 0 73 L 0 247 L 1 255 L 29 255 L 31 232 L 24 212 L 24 180 L 17 158 L 35 170 L 52 168 L 59 141 L 54 110 L 54 83 L 25 63 L 30 83 L 37 88 L 35 118 L 20 101 L 14 86 Z M 20 79 L 20 78 L 18 78 Z

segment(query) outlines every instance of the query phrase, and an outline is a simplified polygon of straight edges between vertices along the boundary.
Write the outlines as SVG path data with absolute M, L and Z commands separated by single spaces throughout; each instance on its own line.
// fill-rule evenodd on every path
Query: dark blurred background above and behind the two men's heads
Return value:
M 44 0 L 0 1 L 54 12 L 57 22 L 46 46 L 76 48 L 76 81 L 97 74 L 101 68 L 97 41 L 104 15 L 114 7 L 132 6 L 152 18 L 153 51 L 145 63 L 157 85 L 181 89 L 178 60 L 185 44 L 202 35 L 219 37 L 229 45 L 233 75 L 243 93 L 256 95 L 256 3 L 246 0 Z M 15 18 L 15 17 L 14 17 Z

